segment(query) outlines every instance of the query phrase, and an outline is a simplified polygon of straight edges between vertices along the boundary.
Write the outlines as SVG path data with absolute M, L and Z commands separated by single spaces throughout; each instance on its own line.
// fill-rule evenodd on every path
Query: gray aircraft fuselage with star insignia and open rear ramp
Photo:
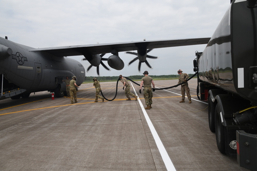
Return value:
M 76 76 L 77 85 L 85 80 L 85 68 L 78 61 L 33 49 L 0 37 L 0 99 L 26 97 L 40 91 L 62 97 L 66 91 L 62 80 L 66 76 Z

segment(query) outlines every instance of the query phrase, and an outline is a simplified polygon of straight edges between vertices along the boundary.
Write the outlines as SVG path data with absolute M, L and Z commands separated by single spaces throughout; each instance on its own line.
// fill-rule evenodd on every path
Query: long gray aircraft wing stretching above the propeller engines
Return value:
M 188 46 L 207 44 L 209 38 L 189 38 L 189 39 L 171 39 L 171 40 L 155 40 L 155 41 L 138 41 L 138 42 L 122 42 L 122 43 L 106 43 L 106 44 L 91 44 L 77 46 L 62 46 L 37 48 L 32 51 L 45 51 L 55 56 L 79 56 L 83 54 L 104 54 L 111 53 L 112 50 L 118 52 L 135 51 L 139 48 L 155 49 L 163 47 Z

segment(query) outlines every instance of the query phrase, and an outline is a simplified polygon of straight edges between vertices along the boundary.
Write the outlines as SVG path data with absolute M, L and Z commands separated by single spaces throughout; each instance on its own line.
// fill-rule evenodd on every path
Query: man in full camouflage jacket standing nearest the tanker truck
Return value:
M 189 100 L 188 103 L 192 103 L 191 101 L 191 95 L 190 95 L 190 89 L 188 87 L 187 79 L 189 77 L 188 74 L 182 73 L 183 71 L 181 69 L 178 70 L 178 74 L 180 75 L 178 78 L 178 84 L 184 82 L 184 84 L 181 84 L 181 94 L 182 94 L 182 100 L 179 103 L 185 103 L 185 92 L 187 93 L 187 98 Z

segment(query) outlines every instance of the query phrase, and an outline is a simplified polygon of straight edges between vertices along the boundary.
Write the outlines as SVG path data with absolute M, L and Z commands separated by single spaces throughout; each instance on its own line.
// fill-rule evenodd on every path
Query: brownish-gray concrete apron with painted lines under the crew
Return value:
M 177 82 L 154 81 L 157 88 Z M 112 99 L 116 82 L 100 84 Z M 139 86 L 130 85 L 137 101 L 126 101 L 121 82 L 113 101 L 94 103 L 93 82 L 80 86 L 74 104 L 49 92 L 1 100 L 0 170 L 247 170 L 219 152 L 196 78 L 189 81 L 191 104 L 179 103 L 178 86 L 153 92 L 150 110 Z

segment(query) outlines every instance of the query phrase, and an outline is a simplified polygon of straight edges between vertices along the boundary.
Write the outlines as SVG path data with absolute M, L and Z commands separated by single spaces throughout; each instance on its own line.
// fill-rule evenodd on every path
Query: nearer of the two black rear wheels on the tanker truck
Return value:
M 225 128 L 221 122 L 219 105 L 215 108 L 215 132 L 216 132 L 216 142 L 218 149 L 221 153 L 225 154 Z

